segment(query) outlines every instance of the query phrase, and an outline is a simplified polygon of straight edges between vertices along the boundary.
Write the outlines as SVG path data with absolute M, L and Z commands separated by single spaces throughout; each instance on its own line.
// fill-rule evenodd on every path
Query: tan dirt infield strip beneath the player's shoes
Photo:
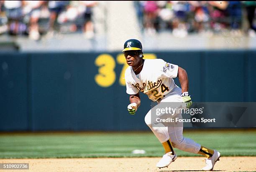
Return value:
M 184 172 L 201 171 L 202 157 L 178 157 L 168 168 L 158 169 L 154 158 L 0 159 L 0 163 L 29 163 L 29 170 L 6 172 Z M 220 157 L 214 171 L 256 171 L 256 157 Z

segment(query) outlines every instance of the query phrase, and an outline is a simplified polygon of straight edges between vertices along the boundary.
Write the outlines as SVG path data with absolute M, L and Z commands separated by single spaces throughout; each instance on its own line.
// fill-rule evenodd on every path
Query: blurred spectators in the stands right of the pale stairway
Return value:
M 171 30 L 177 37 L 189 33 L 218 33 L 228 30 L 242 34 L 243 20 L 246 34 L 255 37 L 255 1 L 135 1 L 142 30 L 154 35 Z

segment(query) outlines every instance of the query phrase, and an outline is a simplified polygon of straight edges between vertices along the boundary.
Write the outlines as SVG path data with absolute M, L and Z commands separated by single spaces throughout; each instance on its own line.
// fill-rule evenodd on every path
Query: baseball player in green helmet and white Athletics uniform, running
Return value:
M 141 104 L 139 92 L 161 105 L 162 102 L 180 102 L 191 105 L 188 93 L 187 72 L 182 67 L 165 62 L 162 59 L 143 59 L 142 45 L 139 40 L 130 39 L 124 43 L 123 53 L 129 67 L 125 71 L 126 92 L 130 95 L 128 112 L 132 115 Z M 179 77 L 181 88 L 175 85 L 172 78 Z M 156 106 L 158 106 L 156 105 Z M 151 109 L 152 110 L 152 109 Z M 202 170 L 212 170 L 220 158 L 220 152 L 199 145 L 194 140 L 182 135 L 182 125 L 158 127 L 151 124 L 151 110 L 145 116 L 146 125 L 162 143 L 165 154 L 156 167 L 168 167 L 177 159 L 173 147 L 186 152 L 204 155 L 206 166 Z M 182 118 L 181 113 L 175 117 Z

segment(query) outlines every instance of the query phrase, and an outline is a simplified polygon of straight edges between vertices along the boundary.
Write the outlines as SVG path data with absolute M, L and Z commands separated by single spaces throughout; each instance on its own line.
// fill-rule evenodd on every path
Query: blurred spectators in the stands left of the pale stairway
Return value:
M 0 34 L 28 35 L 39 40 L 54 32 L 82 31 L 94 37 L 92 8 L 96 1 L 0 0 Z

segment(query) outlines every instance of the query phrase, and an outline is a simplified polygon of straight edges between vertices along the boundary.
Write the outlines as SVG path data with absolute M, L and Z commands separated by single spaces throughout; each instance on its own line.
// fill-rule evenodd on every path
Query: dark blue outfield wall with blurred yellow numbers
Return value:
M 255 50 L 149 52 L 145 57 L 186 69 L 194 102 L 256 102 Z M 120 52 L 0 52 L 0 66 L 0 131 L 148 130 L 146 95 L 136 115 L 127 112 L 127 66 Z

